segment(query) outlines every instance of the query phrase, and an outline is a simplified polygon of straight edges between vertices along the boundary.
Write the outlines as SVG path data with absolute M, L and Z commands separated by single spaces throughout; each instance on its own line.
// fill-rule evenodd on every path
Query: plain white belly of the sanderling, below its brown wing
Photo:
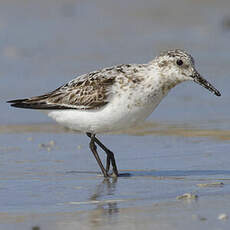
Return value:
M 133 105 L 126 98 L 114 98 L 99 110 L 53 110 L 48 116 L 73 130 L 104 133 L 135 126 L 145 120 L 159 102 Z

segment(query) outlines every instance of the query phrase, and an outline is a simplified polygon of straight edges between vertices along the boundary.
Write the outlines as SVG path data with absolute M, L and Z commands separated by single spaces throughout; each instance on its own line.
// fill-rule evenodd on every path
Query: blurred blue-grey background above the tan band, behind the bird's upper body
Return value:
M 182 48 L 222 97 L 184 83 L 150 119 L 199 126 L 209 120 L 213 128 L 230 127 L 229 0 L 2 0 L 0 38 L 1 124 L 50 122 L 40 113 L 10 108 L 7 100 L 46 93 L 102 67 L 146 63 L 162 50 Z

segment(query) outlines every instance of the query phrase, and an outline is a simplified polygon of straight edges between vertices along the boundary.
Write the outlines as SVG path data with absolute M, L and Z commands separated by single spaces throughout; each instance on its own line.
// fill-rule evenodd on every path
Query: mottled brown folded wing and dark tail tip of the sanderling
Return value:
M 92 72 L 41 96 L 9 101 L 11 106 L 30 109 L 98 109 L 108 103 L 115 77 Z

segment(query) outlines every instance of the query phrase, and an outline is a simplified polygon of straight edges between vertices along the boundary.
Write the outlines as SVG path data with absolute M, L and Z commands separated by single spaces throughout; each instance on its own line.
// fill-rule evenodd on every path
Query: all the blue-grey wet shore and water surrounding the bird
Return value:
M 230 217 L 229 9 L 228 0 L 1 1 L 0 229 L 229 229 L 218 219 Z M 175 47 L 222 96 L 183 83 L 146 123 L 99 136 L 129 177 L 105 181 L 85 135 L 5 103 Z M 198 198 L 177 199 L 184 193 Z

